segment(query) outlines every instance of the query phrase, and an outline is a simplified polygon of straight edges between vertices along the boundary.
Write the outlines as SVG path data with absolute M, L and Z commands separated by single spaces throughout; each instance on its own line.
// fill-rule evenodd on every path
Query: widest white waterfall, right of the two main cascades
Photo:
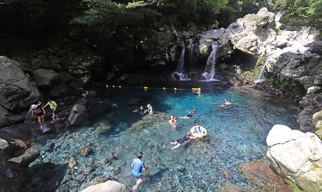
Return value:
M 212 52 L 210 53 L 207 64 L 205 67 L 205 71 L 202 74 L 204 80 L 215 80 L 215 74 L 216 74 L 216 55 L 218 50 L 218 42 L 214 41 L 212 43 Z

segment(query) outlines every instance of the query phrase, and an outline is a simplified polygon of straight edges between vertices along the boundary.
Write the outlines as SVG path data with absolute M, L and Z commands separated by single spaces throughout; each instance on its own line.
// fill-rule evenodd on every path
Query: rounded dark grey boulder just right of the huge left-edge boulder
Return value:
M 50 69 L 36 69 L 33 71 L 32 77 L 38 88 L 45 90 L 49 90 L 60 81 L 59 74 Z

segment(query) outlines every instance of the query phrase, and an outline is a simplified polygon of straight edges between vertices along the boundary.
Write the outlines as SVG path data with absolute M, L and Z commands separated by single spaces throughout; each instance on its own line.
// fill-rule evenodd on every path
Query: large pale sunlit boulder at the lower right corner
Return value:
M 275 125 L 266 142 L 266 158 L 285 180 L 306 192 L 322 190 L 322 141 L 317 135 Z

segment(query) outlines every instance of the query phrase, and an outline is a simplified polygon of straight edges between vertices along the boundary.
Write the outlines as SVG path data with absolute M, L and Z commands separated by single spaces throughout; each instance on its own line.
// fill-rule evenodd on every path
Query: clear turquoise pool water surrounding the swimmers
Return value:
M 96 176 L 110 177 L 132 189 L 136 180 L 131 175 L 131 163 L 139 151 L 143 151 L 145 165 L 151 165 L 143 171 L 144 182 L 138 188 L 142 192 L 220 191 L 227 181 L 246 186 L 239 165 L 265 159 L 268 131 L 275 124 L 289 125 L 296 118 L 297 107 L 291 100 L 249 88 L 219 86 L 217 82 L 185 81 L 148 86 L 187 89 L 176 92 L 142 88 L 97 90 L 100 97 L 90 100 L 91 126 L 73 129 L 49 141 L 55 142 L 55 149 L 42 152 L 33 163 L 63 166 L 68 158 L 75 157 L 76 175 L 82 174 L 87 166 L 94 167 L 81 182 L 76 179 L 61 182 L 59 191 L 77 191 Z M 199 87 L 200 96 L 192 93 L 191 88 Z M 220 107 L 224 99 L 231 99 L 233 104 Z M 155 111 L 177 116 L 179 128 L 173 129 L 167 121 L 160 121 L 131 131 L 132 124 L 143 118 L 132 111 L 147 103 Z M 186 110 L 193 109 L 202 117 L 179 119 L 188 114 Z M 95 126 L 106 120 L 112 124 L 112 132 L 97 134 Z M 184 136 L 196 122 L 208 129 L 205 140 L 188 140 L 173 151 L 167 150 L 172 146 L 165 145 L 166 142 Z M 92 146 L 93 153 L 86 157 L 76 155 L 84 145 Z M 105 160 L 108 153 L 116 158 Z

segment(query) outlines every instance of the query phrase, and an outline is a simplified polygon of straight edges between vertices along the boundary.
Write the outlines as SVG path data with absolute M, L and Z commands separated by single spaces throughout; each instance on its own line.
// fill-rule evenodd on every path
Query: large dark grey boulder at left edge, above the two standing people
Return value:
M 36 83 L 16 63 L 0 56 L 0 105 L 9 111 L 25 109 L 41 98 Z

